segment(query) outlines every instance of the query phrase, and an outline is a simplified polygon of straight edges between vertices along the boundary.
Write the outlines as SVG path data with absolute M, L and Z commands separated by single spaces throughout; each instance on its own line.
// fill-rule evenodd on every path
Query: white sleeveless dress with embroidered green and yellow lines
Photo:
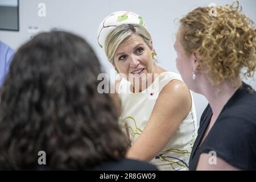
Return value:
M 160 73 L 154 82 L 140 93 L 130 91 L 129 81 L 124 78 L 120 81 L 118 95 L 122 101 L 122 114 L 119 122 L 123 131 L 129 135 L 131 145 L 147 125 L 158 94 L 168 82 L 174 79 L 182 81 L 180 75 L 176 73 Z M 176 133 L 159 155 L 151 160 L 159 170 L 188 170 L 189 156 L 197 136 L 196 111 L 192 93 L 191 98 L 192 107 L 187 118 L 180 123 Z

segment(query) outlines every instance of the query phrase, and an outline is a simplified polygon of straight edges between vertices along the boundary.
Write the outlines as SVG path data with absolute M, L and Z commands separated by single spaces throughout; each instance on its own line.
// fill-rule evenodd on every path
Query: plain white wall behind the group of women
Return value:
M 174 23 L 174 20 L 183 17 L 198 6 L 208 6 L 210 3 L 226 5 L 232 2 L 232 0 L 180 0 L 176 2 L 170 0 L 20 0 L 20 31 L 0 31 L 0 39 L 16 49 L 30 37 L 30 33 L 27 32 L 28 27 L 36 26 L 39 30 L 50 30 L 56 27 L 72 31 L 88 40 L 106 72 L 109 73 L 109 69 L 112 67 L 106 60 L 104 51 L 97 44 L 98 25 L 105 16 L 114 11 L 134 11 L 146 21 L 152 35 L 154 48 L 158 53 L 160 67 L 167 71 L 177 72 L 176 53 L 173 48 L 177 24 Z M 46 17 L 38 16 L 39 3 L 46 4 Z M 256 1 L 243 0 L 240 3 L 243 13 L 256 22 L 254 10 Z M 256 88 L 255 81 L 251 81 L 250 84 Z M 193 96 L 199 121 L 200 115 L 207 105 L 207 100 L 199 94 L 194 93 Z

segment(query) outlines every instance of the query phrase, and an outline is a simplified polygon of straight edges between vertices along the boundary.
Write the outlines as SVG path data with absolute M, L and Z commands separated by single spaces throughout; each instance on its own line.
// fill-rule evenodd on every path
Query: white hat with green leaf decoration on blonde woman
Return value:
M 121 24 L 140 24 L 146 28 L 143 18 L 130 11 L 117 11 L 107 16 L 98 27 L 98 44 L 104 48 L 107 36 Z

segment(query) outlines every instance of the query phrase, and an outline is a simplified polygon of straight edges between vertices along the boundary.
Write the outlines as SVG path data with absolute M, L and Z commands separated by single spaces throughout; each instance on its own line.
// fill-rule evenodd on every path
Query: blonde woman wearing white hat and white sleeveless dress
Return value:
M 107 16 L 98 28 L 98 44 L 120 75 L 115 88 L 119 120 L 131 144 L 126 156 L 160 170 L 187 170 L 197 135 L 193 97 L 179 75 L 155 64 L 143 18 L 127 11 Z

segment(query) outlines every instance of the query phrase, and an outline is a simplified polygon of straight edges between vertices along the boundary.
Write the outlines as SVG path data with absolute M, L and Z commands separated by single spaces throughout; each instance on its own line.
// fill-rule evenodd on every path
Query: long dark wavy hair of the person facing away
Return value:
M 0 168 L 92 169 L 125 156 L 127 142 L 92 48 L 63 31 L 35 36 L 16 52 L 1 88 Z

